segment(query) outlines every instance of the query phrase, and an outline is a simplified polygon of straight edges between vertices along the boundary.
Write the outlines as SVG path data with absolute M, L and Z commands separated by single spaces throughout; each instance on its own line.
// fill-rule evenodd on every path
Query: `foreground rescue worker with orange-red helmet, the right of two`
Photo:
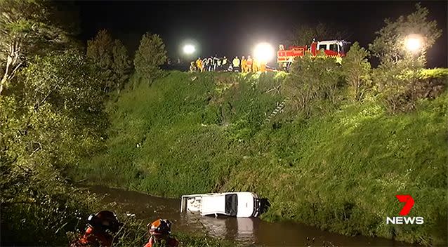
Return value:
M 158 219 L 147 225 L 150 232 L 150 240 L 143 247 L 159 246 L 165 243 L 167 247 L 177 247 L 179 242 L 169 236 L 171 234 L 171 222 L 169 220 Z

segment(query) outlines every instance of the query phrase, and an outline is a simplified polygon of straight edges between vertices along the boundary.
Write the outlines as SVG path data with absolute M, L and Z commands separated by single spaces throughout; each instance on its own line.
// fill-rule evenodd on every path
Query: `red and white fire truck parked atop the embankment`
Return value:
M 348 52 L 350 42 L 343 40 L 329 40 L 329 41 L 312 41 L 310 46 L 289 46 L 288 50 L 284 46 L 279 45 L 277 51 L 277 63 L 281 69 L 286 72 L 297 57 L 303 57 L 305 53 L 310 53 L 316 56 L 318 51 L 323 51 L 327 56 L 334 56 L 340 60 Z

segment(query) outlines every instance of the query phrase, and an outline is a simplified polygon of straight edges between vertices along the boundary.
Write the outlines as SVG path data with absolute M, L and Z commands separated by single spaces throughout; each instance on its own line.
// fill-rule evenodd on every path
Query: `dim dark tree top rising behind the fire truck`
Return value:
M 348 34 L 345 30 L 337 30 L 335 27 L 319 22 L 317 25 L 302 24 L 290 35 L 289 43 L 295 46 L 305 46 L 312 42 L 312 39 L 328 40 L 328 39 L 344 39 Z

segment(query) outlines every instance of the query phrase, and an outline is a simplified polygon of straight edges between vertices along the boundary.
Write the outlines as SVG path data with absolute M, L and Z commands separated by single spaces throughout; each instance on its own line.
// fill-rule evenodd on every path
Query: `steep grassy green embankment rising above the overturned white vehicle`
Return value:
M 263 217 L 343 234 L 447 242 L 447 107 L 444 93 L 390 116 L 376 100 L 343 102 L 305 119 L 285 112 L 283 74 L 171 72 L 110 106 L 107 149 L 78 179 L 162 196 L 249 190 L 272 204 Z M 424 225 L 386 225 L 396 194 L 416 201 Z

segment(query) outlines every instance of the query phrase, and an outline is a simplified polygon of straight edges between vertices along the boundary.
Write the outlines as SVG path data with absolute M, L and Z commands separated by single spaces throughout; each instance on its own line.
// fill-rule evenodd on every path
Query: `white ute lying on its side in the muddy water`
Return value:
M 251 192 L 190 194 L 182 196 L 180 212 L 200 212 L 201 215 L 257 217 L 260 199 Z

